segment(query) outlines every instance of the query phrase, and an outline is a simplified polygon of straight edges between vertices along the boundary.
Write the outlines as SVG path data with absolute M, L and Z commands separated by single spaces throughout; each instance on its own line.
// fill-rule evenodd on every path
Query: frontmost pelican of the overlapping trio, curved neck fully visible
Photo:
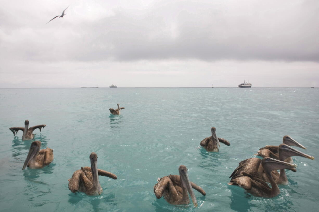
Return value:
M 254 175 L 249 175 L 246 172 L 243 172 L 241 175 L 230 180 L 228 185 L 238 185 L 245 189 L 248 193 L 253 194 L 257 197 L 267 197 L 271 198 L 280 194 L 280 190 L 271 176 L 272 170 L 285 169 L 290 167 L 297 167 L 295 164 L 286 163 L 284 161 L 276 160 L 273 158 L 265 157 L 261 160 L 261 164 L 267 175 L 271 187 L 268 184 L 259 178 L 256 178 Z

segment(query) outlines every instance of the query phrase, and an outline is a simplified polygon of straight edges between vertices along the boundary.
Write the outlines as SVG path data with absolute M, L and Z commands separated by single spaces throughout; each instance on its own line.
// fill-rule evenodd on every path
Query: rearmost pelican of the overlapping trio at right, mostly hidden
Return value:
M 289 146 L 297 146 L 297 147 L 300 147 L 304 150 L 307 149 L 306 147 L 299 144 L 297 141 L 295 141 L 293 138 L 291 138 L 290 136 L 287 136 L 287 135 L 282 138 L 282 143 L 289 145 Z M 279 159 L 278 146 L 266 145 L 265 147 L 259 149 L 259 151 L 257 151 L 257 154 L 255 154 L 255 155 L 258 155 L 261 157 L 271 157 L 274 159 Z M 288 157 L 285 161 L 287 163 L 293 163 L 292 157 Z

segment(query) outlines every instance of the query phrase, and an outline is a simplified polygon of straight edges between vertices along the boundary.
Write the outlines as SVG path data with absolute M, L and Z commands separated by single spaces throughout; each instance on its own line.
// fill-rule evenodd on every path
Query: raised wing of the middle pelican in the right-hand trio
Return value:
M 249 158 L 239 163 L 239 166 L 234 170 L 229 178 L 234 179 L 236 176 L 241 175 L 243 172 L 249 173 L 253 176 L 258 176 L 258 168 L 261 163 L 260 158 Z

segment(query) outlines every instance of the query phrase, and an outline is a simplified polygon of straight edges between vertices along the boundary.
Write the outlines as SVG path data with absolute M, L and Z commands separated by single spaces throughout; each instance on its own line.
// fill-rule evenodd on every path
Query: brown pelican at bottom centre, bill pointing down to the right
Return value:
M 195 183 L 189 181 L 187 168 L 181 165 L 178 168 L 178 175 L 169 175 L 159 178 L 158 183 L 154 186 L 154 194 L 156 198 L 161 198 L 164 195 L 164 199 L 173 205 L 188 205 L 190 203 L 188 193 L 193 201 L 195 207 L 197 207 L 197 201 L 195 194 L 192 190 L 194 188 L 204 196 L 206 195 L 203 188 L 197 186 Z M 188 192 L 188 193 L 187 193 Z

